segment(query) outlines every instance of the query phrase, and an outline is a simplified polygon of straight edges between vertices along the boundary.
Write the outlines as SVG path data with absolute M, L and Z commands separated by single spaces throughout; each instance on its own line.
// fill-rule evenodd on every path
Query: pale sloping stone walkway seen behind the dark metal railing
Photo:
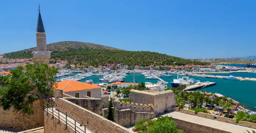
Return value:
M 55 108 L 53 108 L 53 110 L 54 110 L 54 119 L 58 119 L 58 111 L 57 110 L 55 110 Z M 52 110 L 51 110 L 51 108 L 48 108 L 48 115 L 52 115 Z M 60 112 L 60 118 L 61 119 L 63 119 L 63 120 L 65 120 L 66 119 L 66 115 L 65 114 L 63 114 L 63 113 L 61 113 Z M 60 119 L 60 121 L 62 121 L 64 124 L 66 123 L 66 121 L 63 121 L 63 120 L 61 120 Z M 70 117 L 68 117 L 67 116 L 67 123 L 68 123 L 68 127 L 70 127 L 71 129 L 73 129 L 73 130 L 75 130 L 75 121 L 74 121 L 74 119 L 72 119 L 72 118 L 70 118 Z M 79 132 L 79 133 L 84 133 L 85 131 L 84 131 L 84 126 L 80 126 L 80 124 L 79 123 L 76 123 L 76 125 L 77 125 L 77 132 Z M 79 127 L 79 128 L 78 128 Z M 86 127 L 86 133 L 93 133 L 92 131 L 90 131 L 87 127 Z

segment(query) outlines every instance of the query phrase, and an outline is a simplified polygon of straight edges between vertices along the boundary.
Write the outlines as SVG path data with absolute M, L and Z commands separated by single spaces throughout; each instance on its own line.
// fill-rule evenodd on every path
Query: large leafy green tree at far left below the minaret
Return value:
M 58 69 L 48 64 L 27 64 L 24 67 L 18 66 L 11 70 L 7 78 L 0 78 L 0 107 L 9 110 L 13 107 L 16 111 L 24 114 L 33 114 L 32 103 L 39 95 L 40 102 L 43 102 L 43 95 L 52 96 L 55 76 Z

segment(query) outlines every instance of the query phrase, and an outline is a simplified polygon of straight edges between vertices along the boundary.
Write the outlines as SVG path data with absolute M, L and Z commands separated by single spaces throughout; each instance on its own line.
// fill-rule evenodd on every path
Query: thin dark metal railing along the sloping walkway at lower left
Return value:
M 47 103 L 43 100 L 44 111 L 46 111 L 46 115 L 52 115 L 51 119 L 54 119 L 54 116 L 58 119 L 58 123 L 62 121 L 65 123 L 65 129 L 68 127 L 75 130 L 75 133 L 86 133 L 86 129 L 92 132 L 86 125 L 79 122 L 77 119 L 67 115 L 67 112 L 61 111 L 60 109 L 54 107 L 53 105 Z M 93 132 L 92 132 L 93 133 Z

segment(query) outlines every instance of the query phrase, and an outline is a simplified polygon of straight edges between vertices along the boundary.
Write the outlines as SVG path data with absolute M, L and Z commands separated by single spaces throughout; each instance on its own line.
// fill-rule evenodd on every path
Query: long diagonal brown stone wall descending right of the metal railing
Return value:
M 127 128 L 111 122 L 102 116 L 80 107 L 64 98 L 56 98 L 56 108 L 84 123 L 95 133 L 129 133 Z

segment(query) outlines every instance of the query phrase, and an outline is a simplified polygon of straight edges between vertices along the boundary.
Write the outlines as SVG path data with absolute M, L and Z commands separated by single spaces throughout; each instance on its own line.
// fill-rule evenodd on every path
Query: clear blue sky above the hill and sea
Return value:
M 80 41 L 184 58 L 256 55 L 256 0 L 1 0 L 0 53 Z

